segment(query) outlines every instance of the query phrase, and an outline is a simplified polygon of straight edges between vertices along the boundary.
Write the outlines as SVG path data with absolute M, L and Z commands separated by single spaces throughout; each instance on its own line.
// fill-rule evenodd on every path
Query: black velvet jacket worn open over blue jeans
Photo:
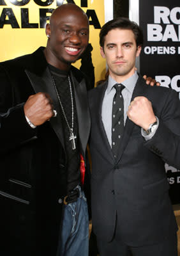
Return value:
M 71 77 L 85 158 L 90 130 L 86 81 L 74 67 Z M 43 47 L 1 63 L 0 81 L 0 254 L 55 256 L 67 161 L 60 107 Z M 29 95 L 37 92 L 49 93 L 57 117 L 32 129 L 23 107 Z

